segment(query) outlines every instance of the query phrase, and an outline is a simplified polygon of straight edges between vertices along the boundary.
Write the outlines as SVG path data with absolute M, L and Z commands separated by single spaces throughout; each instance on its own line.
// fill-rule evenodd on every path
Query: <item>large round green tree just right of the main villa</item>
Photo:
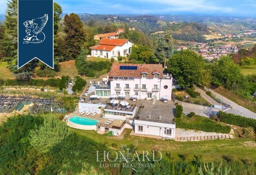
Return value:
M 182 50 L 174 54 L 168 60 L 167 71 L 170 72 L 178 81 L 179 86 L 185 88 L 200 82 L 202 69 L 204 66 L 203 58 L 190 50 Z

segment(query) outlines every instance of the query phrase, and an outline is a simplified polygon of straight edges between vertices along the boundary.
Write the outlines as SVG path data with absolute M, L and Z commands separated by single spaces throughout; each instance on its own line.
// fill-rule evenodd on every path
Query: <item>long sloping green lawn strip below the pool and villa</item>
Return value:
M 171 152 L 174 160 L 180 160 L 178 153 L 189 153 L 190 159 L 193 155 L 202 155 L 204 161 L 223 160 L 222 155 L 231 154 L 235 159 L 247 157 L 256 159 L 256 141 L 254 139 L 230 139 L 230 140 L 208 140 L 199 142 L 176 142 L 172 140 L 160 140 L 147 137 L 131 136 L 131 129 L 125 129 L 124 139 L 117 139 L 115 136 L 99 135 L 92 130 L 79 130 L 70 128 L 79 135 L 84 135 L 94 139 L 96 142 L 105 143 L 109 148 L 112 143 L 116 143 L 119 148 L 123 144 L 134 144 L 138 142 L 137 149 L 141 150 L 160 150 L 163 156 L 165 152 Z

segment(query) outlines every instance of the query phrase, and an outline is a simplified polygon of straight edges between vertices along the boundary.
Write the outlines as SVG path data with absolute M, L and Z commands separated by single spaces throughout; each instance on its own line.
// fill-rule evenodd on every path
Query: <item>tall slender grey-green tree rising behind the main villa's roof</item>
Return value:
M 155 51 L 155 56 L 164 61 L 164 68 L 166 65 L 166 58 L 170 58 L 173 54 L 173 38 L 169 31 L 167 31 L 159 40 Z

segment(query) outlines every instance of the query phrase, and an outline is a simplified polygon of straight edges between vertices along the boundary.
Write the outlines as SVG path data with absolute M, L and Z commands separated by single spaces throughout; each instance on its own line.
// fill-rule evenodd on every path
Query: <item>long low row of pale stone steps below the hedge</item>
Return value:
M 195 137 L 175 137 L 175 141 L 203 141 L 203 140 L 217 140 L 217 139 L 233 139 L 231 134 L 211 135 L 211 136 L 195 136 Z

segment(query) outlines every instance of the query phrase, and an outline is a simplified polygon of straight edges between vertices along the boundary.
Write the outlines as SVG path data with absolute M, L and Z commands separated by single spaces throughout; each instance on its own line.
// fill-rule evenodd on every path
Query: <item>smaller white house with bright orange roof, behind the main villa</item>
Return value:
M 103 38 L 98 45 L 91 47 L 91 55 L 100 58 L 117 58 L 131 53 L 132 43 L 127 39 Z

